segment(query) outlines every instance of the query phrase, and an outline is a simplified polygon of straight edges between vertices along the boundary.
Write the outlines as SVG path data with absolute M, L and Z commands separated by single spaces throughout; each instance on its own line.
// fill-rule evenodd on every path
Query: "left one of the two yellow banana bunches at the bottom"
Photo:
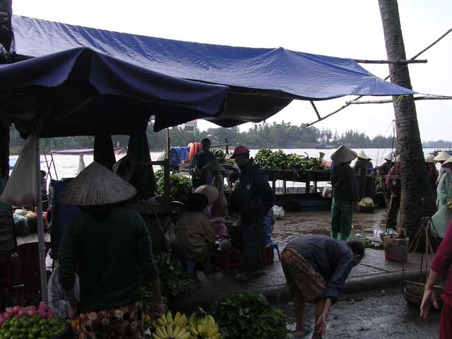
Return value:
M 159 319 L 153 323 L 154 339 L 189 339 L 189 328 L 186 328 L 187 319 L 185 314 L 177 312 L 174 319 L 171 311 L 162 314 Z

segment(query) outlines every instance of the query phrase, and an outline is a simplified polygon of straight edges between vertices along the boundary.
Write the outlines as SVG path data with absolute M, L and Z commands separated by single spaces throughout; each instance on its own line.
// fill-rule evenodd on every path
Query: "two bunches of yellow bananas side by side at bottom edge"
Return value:
M 187 321 L 185 314 L 171 311 L 163 314 L 153 323 L 154 339 L 221 339 L 220 328 L 213 316 L 207 314 L 201 307 Z

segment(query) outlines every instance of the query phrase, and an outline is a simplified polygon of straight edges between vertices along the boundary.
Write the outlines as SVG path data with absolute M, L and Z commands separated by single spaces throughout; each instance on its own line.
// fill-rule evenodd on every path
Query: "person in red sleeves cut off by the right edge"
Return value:
M 452 225 L 452 222 L 451 222 Z M 443 310 L 441 311 L 441 323 L 439 326 L 439 339 L 452 338 L 452 227 L 449 225 L 446 236 L 439 245 L 430 267 L 429 278 L 425 284 L 424 297 L 422 297 L 421 316 L 427 319 L 430 304 L 439 309 L 434 292 L 434 283 L 439 276 L 446 276 L 444 285 Z

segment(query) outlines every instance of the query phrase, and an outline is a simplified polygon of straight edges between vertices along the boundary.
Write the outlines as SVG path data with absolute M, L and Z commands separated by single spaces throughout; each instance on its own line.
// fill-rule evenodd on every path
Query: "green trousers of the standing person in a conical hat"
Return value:
M 352 201 L 338 201 L 333 198 L 331 204 L 331 237 L 345 242 L 350 241 L 352 221 Z

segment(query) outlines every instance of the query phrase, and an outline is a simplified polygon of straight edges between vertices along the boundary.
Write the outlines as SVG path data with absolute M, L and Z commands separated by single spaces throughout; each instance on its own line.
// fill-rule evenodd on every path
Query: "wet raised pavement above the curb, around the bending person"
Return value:
M 330 229 L 329 210 L 287 213 L 275 224 L 273 242 L 278 243 L 280 251 L 294 237 L 306 234 L 328 234 Z M 371 239 L 377 246 L 381 244 L 378 232 L 384 229 L 386 213 L 355 213 L 354 228 Z M 212 273 L 208 280 L 194 285 L 189 292 L 172 301 L 174 309 L 191 309 L 194 304 L 208 307 L 215 299 L 230 297 L 237 293 L 262 293 L 271 302 L 290 299 L 285 283 L 283 268 L 275 253 L 272 265 L 258 270 L 254 278 L 246 283 L 234 279 L 236 270 Z M 420 275 L 420 256 L 410 256 L 408 263 L 396 263 L 384 258 L 383 249 L 366 249 L 366 256 L 359 266 L 352 269 L 343 288 L 343 293 L 366 290 L 381 290 L 391 287 L 402 288 L 403 278 L 415 280 Z

